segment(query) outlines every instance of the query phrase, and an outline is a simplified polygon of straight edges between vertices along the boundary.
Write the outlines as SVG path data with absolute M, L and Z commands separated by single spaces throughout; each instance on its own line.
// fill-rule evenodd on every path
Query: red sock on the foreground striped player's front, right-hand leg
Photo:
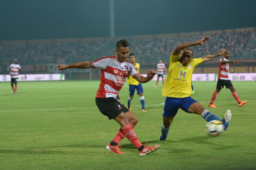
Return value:
M 122 131 L 124 133 L 124 136 L 127 137 L 127 139 L 130 140 L 130 142 L 132 142 L 132 144 L 139 149 L 142 146 L 142 143 L 139 141 L 136 133 L 132 130 L 132 127 L 130 124 L 123 126 Z

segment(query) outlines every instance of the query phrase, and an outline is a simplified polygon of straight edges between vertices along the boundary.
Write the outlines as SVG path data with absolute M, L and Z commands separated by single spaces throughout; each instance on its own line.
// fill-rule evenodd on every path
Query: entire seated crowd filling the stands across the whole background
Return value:
M 256 31 L 243 31 L 236 33 L 210 34 L 210 43 L 204 46 L 194 46 L 191 49 L 196 52 L 195 57 L 216 53 L 219 49 L 226 48 L 230 51 L 232 58 L 256 58 Z M 181 37 L 155 37 L 129 39 L 132 53 L 137 56 L 169 56 L 177 44 L 191 42 L 200 39 L 202 35 Z M 68 43 L 42 43 L 42 44 L 0 44 L 0 72 L 5 71 L 17 58 L 23 65 L 30 64 L 61 64 L 74 63 L 77 61 L 93 61 L 103 55 L 113 55 L 115 45 L 111 41 L 77 41 Z M 109 51 L 108 51 L 109 50 Z M 157 62 L 159 57 L 155 58 Z M 167 57 L 168 58 L 168 57 Z M 217 59 L 216 59 L 217 60 Z M 148 59 L 151 61 L 152 59 Z M 63 63 L 62 63 L 63 64 Z

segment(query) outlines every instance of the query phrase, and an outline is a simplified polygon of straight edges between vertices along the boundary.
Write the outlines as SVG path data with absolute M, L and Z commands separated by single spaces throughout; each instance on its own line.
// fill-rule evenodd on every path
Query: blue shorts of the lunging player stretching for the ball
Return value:
M 163 108 L 163 117 L 175 116 L 181 108 L 183 111 L 188 112 L 188 108 L 191 104 L 197 102 L 191 97 L 185 98 L 175 98 L 175 97 L 166 97 L 165 107 Z

